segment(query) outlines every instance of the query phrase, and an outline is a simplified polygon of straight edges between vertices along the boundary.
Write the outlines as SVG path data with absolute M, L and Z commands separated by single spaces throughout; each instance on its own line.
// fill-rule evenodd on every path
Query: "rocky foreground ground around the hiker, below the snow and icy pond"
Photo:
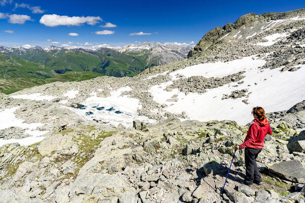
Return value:
M 19 100 L 21 106 L 23 102 Z M 37 105 L 44 106 L 43 103 Z M 17 111 L 26 110 L 21 107 Z M 60 113 L 66 114 L 65 110 Z M 297 113 L 305 111 L 292 114 Z M 68 119 L 72 123 L 68 130 L 51 130 L 40 143 L 7 144 L 0 148 L 3 202 L 302 202 L 304 199 L 305 130 L 294 130 L 284 120 L 271 124 L 273 134 L 265 138 L 264 149 L 257 158 L 263 185 L 240 184 L 245 167 L 243 156 L 236 153 L 225 192 L 220 194 L 233 145 L 245 138 L 247 126 L 228 120 L 181 122 L 168 118 L 156 125 L 135 121 L 133 128 L 123 125 L 114 128 L 84 121 L 78 115 L 73 118 L 74 121 L 61 118 L 62 122 Z M 48 128 L 42 126 L 43 130 Z

